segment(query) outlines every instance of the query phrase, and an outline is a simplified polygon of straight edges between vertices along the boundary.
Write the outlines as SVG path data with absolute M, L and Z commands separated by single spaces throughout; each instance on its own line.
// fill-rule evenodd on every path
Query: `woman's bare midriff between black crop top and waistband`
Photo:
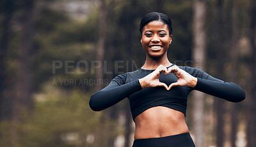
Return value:
M 165 137 L 188 132 L 185 116 L 180 111 L 157 106 L 147 109 L 135 118 L 134 139 Z

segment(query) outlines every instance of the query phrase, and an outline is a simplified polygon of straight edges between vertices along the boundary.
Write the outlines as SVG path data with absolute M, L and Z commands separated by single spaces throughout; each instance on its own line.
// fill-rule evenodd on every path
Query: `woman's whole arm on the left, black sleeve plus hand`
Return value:
M 160 65 L 151 74 L 127 84 L 125 84 L 126 74 L 116 76 L 106 88 L 93 93 L 89 102 L 91 109 L 93 111 L 102 111 L 142 88 L 163 86 L 168 89 L 166 84 L 158 79 L 161 72 L 168 74 L 167 69 Z

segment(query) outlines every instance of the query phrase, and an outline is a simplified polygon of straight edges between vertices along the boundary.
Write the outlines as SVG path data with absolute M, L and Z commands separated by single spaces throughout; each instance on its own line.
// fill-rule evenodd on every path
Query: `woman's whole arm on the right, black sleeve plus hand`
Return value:
M 172 72 L 178 78 L 178 81 L 170 84 L 169 88 L 172 88 L 172 86 L 188 86 L 229 102 L 241 102 L 245 98 L 243 89 L 233 82 L 221 81 L 197 68 L 188 66 L 180 68 L 178 66 L 168 68 L 168 72 Z

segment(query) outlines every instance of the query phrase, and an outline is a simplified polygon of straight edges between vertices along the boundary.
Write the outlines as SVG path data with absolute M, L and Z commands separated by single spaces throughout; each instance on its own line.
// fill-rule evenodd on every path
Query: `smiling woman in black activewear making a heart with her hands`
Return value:
M 195 146 L 185 121 L 189 92 L 196 89 L 230 102 L 241 102 L 245 93 L 237 84 L 170 63 L 167 50 L 172 43 L 172 22 L 167 15 L 148 13 L 141 19 L 140 32 L 145 64 L 116 76 L 94 93 L 90 107 L 101 111 L 128 97 L 136 124 L 133 147 Z

